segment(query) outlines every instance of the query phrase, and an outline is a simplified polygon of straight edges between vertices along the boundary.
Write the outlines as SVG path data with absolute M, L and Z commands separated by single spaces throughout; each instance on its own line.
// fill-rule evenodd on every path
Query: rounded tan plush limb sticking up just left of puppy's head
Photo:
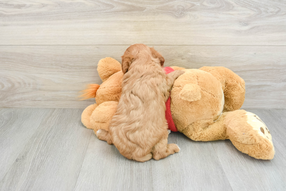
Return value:
M 103 58 L 97 64 L 97 72 L 102 82 L 118 71 L 121 71 L 121 64 L 111 57 Z

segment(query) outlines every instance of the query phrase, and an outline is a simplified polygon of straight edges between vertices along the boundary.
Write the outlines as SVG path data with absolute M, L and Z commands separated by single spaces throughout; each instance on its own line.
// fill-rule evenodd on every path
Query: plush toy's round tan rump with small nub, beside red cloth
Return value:
M 222 85 L 211 73 L 185 69 L 171 90 L 171 112 L 179 131 L 193 122 L 216 120 L 224 108 Z

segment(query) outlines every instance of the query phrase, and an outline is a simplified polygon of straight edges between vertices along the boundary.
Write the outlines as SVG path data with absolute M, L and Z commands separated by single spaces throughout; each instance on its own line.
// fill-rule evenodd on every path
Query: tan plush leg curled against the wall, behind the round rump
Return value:
M 204 66 L 200 70 L 211 73 L 222 84 L 224 92 L 224 112 L 238 110 L 245 98 L 245 82 L 237 74 L 225 67 Z

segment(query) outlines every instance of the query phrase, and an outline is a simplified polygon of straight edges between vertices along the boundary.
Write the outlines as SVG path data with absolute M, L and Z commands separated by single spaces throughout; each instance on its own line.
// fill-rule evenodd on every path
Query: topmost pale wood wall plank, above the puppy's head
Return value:
M 2 1 L 0 45 L 286 45 L 282 0 Z

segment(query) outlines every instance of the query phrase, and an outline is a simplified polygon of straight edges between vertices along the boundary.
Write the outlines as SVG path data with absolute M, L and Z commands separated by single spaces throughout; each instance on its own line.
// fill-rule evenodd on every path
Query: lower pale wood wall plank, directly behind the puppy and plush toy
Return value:
M 86 108 L 88 83 L 101 84 L 104 57 L 119 62 L 128 45 L 0 46 L 0 107 Z M 245 80 L 242 108 L 286 108 L 286 46 L 156 45 L 165 66 L 224 66 Z

